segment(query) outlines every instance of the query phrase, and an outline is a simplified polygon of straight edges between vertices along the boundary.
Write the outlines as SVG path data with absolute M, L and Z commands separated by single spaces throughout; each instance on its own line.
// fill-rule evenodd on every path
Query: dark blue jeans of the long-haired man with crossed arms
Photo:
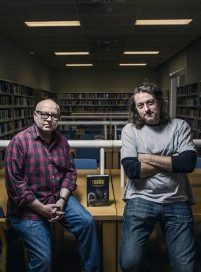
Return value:
M 145 250 L 157 221 L 166 238 L 171 271 L 194 272 L 195 237 L 189 203 L 160 204 L 141 198 L 126 202 L 119 258 L 122 271 L 151 271 Z

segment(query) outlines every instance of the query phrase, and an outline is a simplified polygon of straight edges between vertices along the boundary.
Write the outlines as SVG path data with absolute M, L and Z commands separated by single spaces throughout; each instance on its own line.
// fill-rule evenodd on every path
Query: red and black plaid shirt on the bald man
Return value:
M 60 189 L 76 189 L 76 169 L 67 139 L 52 132 L 50 144 L 35 124 L 14 136 L 5 154 L 7 215 L 38 220 L 42 217 L 27 207 L 34 199 L 55 203 Z

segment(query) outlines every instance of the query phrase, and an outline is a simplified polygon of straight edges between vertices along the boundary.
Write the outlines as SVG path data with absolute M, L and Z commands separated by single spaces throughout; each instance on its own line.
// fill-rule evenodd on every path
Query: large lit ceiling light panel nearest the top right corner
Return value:
M 135 25 L 177 25 L 188 24 L 192 19 L 136 20 Z

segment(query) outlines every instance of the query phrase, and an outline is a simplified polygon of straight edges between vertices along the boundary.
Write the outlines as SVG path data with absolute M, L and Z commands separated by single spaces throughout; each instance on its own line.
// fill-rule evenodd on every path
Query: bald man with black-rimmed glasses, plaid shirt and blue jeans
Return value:
M 66 138 L 56 132 L 59 106 L 47 99 L 33 113 L 32 127 L 6 149 L 7 216 L 22 237 L 31 272 L 51 271 L 50 222 L 77 239 L 82 272 L 100 272 L 101 254 L 93 217 L 72 194 L 76 169 Z

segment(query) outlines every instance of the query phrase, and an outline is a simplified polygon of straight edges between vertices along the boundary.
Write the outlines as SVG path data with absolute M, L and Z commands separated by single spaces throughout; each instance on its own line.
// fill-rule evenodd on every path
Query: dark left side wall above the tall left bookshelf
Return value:
M 0 78 L 51 90 L 50 70 L 3 37 L 0 37 Z

